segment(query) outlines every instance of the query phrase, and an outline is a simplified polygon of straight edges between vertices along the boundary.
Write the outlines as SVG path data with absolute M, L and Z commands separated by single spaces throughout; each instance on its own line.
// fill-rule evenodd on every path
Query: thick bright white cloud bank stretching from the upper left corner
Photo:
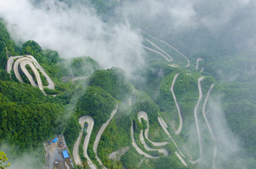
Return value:
M 11 37 L 18 43 L 35 40 L 57 50 L 63 58 L 90 55 L 104 68 L 121 67 L 131 74 L 144 63 L 142 38 L 122 24 L 104 23 L 90 5 L 46 0 L 33 6 L 28 0 L 0 1 Z

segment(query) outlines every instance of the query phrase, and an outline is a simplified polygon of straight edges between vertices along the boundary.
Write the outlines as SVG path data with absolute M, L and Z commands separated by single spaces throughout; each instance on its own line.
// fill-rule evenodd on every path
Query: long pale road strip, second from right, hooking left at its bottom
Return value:
M 199 152 L 200 152 L 200 156 L 197 160 L 191 160 L 191 163 L 195 164 L 198 163 L 201 160 L 202 157 L 202 141 L 201 141 L 201 133 L 200 133 L 200 128 L 199 128 L 199 124 L 198 124 L 198 107 L 199 104 L 201 102 L 201 99 L 203 97 L 203 92 L 202 92 L 202 87 L 201 87 L 201 82 L 203 81 L 204 77 L 200 77 L 198 78 L 198 90 L 199 90 L 199 98 L 198 98 L 198 102 L 196 103 L 196 107 L 194 109 L 194 116 L 195 116 L 195 120 L 196 120 L 196 131 L 198 133 L 198 143 L 199 143 Z

